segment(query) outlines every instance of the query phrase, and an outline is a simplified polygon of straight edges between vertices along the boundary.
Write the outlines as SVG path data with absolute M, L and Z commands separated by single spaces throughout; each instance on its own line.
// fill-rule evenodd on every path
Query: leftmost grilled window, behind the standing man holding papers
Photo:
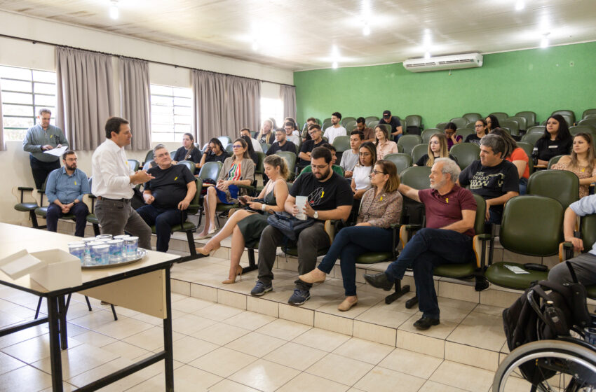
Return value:
M 4 140 L 25 139 L 27 129 L 36 123 L 39 109 L 52 111 L 55 123 L 56 73 L 37 69 L 0 66 Z

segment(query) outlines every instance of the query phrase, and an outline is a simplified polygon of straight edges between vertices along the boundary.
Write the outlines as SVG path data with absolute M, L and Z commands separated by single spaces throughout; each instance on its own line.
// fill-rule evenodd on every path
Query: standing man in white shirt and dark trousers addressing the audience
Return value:
M 97 196 L 95 216 L 102 234 L 123 235 L 124 230 L 139 237 L 139 246 L 151 250 L 151 228 L 130 205 L 133 187 L 154 179 L 145 170 L 134 173 L 128 167 L 124 146 L 130 144 L 128 121 L 119 117 L 107 120 L 106 141 L 91 158 L 93 183 L 91 193 Z

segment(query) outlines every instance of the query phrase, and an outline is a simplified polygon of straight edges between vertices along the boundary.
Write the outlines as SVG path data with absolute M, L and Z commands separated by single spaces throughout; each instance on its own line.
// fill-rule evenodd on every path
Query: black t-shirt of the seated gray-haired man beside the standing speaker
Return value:
M 187 183 L 194 181 L 194 176 L 184 165 L 172 165 L 162 170 L 158 166 L 147 171 L 155 179 L 145 183 L 145 190 L 151 190 L 156 208 L 176 209 L 178 203 L 187 197 Z

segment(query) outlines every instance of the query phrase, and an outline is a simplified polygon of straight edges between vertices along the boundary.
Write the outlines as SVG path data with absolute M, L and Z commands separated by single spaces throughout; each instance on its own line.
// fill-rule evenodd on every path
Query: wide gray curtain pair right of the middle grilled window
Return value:
M 261 83 L 259 80 L 192 71 L 196 141 L 238 136 L 242 127 L 259 129 Z

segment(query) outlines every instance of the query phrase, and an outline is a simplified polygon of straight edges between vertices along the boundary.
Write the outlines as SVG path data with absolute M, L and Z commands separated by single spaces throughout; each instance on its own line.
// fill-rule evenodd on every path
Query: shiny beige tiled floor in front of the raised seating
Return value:
M 36 297 L 2 287 L 0 298 L 1 326 L 32 318 Z M 194 297 L 172 294 L 172 301 L 176 391 L 486 392 L 492 384 L 494 373 L 478 367 Z M 66 391 L 162 346 L 157 318 L 116 307 L 119 319 L 114 321 L 109 307 L 93 299 L 91 303 L 89 312 L 83 297 L 74 295 L 69 309 L 69 349 L 62 353 Z M 448 329 L 461 328 L 456 336 L 463 338 L 469 332 L 466 319 L 473 316 L 470 322 L 486 323 L 482 333 L 489 335 L 490 317 L 495 317 L 490 311 L 458 314 L 454 317 L 460 322 Z M 49 391 L 49 387 L 47 327 L 1 337 L 0 391 Z M 102 391 L 163 388 L 160 362 Z

